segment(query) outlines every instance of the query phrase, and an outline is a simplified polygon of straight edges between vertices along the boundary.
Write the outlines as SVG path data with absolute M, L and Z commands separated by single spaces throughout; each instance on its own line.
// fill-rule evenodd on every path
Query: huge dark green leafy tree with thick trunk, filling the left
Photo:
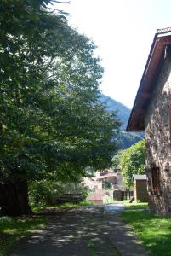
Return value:
M 109 165 L 115 113 L 98 100 L 103 69 L 94 44 L 50 14 L 51 1 L 0 3 L 0 204 L 31 212 L 27 182 L 77 180 Z

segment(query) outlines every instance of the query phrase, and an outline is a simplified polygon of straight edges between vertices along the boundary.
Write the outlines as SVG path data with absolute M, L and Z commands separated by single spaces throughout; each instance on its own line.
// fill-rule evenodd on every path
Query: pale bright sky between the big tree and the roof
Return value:
M 171 26 L 170 0 L 71 0 L 71 26 L 98 46 L 100 90 L 131 108 L 157 28 Z

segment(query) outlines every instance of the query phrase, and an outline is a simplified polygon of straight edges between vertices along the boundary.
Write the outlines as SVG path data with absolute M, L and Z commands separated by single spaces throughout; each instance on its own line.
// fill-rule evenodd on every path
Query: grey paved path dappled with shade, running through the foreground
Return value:
M 70 210 L 21 240 L 9 256 L 145 256 L 140 241 L 118 218 L 122 211 L 122 205 Z

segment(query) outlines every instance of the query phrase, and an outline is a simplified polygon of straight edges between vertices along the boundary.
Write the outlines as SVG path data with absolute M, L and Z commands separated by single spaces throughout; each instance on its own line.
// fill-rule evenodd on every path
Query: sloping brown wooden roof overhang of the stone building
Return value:
M 167 46 L 171 44 L 171 27 L 158 30 L 151 45 L 145 71 L 140 80 L 126 131 L 145 131 L 145 110 L 148 107 L 157 76 L 165 58 Z

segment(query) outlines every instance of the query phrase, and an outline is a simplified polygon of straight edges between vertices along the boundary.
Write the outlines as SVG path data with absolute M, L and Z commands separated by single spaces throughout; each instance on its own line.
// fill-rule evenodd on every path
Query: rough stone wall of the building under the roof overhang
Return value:
M 171 103 L 170 53 L 158 75 L 151 103 L 145 113 L 146 171 L 149 205 L 152 210 L 171 214 L 171 134 L 169 103 Z M 154 191 L 151 169 L 159 167 L 159 191 Z

